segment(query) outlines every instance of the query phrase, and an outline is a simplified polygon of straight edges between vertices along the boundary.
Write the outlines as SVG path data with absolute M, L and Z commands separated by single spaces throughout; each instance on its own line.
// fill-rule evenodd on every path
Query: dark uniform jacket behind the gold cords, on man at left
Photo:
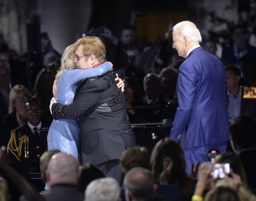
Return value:
M 43 123 L 42 127 L 44 127 Z M 33 177 L 33 175 L 30 175 L 29 173 L 40 173 L 39 159 L 40 156 L 44 153 L 44 151 L 47 151 L 47 133 L 47 131 L 41 131 L 39 137 L 36 138 L 31 132 L 28 123 L 26 123 L 23 127 L 17 129 L 15 132 L 16 143 L 18 146 L 20 143 L 20 137 L 22 135 L 28 135 L 29 158 L 25 158 L 24 143 L 22 144 L 21 148 L 20 161 L 12 154 L 11 151 L 9 151 L 8 153 L 8 158 L 9 160 L 17 163 L 21 167 L 25 177 L 28 180 L 30 180 L 31 176 Z M 14 153 L 17 154 L 17 152 Z M 35 176 L 40 177 L 40 175 Z

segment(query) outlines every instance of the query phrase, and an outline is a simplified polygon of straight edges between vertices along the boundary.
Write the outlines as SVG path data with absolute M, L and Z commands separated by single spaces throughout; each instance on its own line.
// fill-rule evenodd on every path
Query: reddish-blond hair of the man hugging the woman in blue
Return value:
M 100 38 L 96 36 L 80 38 L 74 44 L 74 50 L 76 50 L 79 45 L 83 45 L 84 55 L 94 55 L 100 63 L 104 61 L 106 57 L 106 49 Z

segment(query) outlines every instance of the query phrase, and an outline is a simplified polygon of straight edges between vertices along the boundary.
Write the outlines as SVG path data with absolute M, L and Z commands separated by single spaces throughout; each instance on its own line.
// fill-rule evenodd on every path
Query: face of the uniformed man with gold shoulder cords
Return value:
M 27 108 L 27 116 L 28 122 L 33 126 L 37 126 L 41 121 L 41 108 L 39 104 L 30 103 Z

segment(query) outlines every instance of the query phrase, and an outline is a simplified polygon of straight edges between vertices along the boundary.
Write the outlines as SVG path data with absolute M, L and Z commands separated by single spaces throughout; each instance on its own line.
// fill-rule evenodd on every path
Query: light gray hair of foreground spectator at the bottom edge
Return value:
M 120 186 L 111 177 L 95 179 L 85 190 L 86 201 L 117 201 L 120 196 Z

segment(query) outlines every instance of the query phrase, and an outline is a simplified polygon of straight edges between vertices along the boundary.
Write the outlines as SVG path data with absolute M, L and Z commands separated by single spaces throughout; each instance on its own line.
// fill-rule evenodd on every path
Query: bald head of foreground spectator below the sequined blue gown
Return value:
M 57 153 L 49 161 L 47 183 L 54 184 L 74 184 L 78 183 L 78 163 L 75 157 L 67 153 Z

